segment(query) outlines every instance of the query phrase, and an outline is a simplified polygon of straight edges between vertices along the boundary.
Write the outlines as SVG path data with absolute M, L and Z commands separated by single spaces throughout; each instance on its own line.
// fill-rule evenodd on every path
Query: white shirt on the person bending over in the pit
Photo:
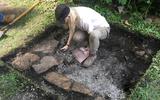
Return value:
M 91 33 L 96 27 L 110 27 L 106 19 L 95 10 L 88 7 L 72 7 L 79 16 L 76 27 Z

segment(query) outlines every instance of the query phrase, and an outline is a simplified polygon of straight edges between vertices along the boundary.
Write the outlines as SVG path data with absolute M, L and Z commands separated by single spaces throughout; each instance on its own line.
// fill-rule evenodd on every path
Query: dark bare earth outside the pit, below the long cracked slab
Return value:
M 34 85 L 28 84 L 21 91 L 17 92 L 9 100 L 93 100 L 81 97 L 80 95 L 72 96 L 74 94 L 50 94 L 46 93 Z M 79 98 L 79 99 L 76 99 Z

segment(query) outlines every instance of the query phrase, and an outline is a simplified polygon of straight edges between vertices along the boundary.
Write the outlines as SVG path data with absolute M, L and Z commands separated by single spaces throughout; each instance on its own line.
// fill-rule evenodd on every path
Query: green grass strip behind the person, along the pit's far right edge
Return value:
M 147 22 L 138 12 L 119 14 L 117 11 L 99 5 L 96 5 L 93 8 L 105 16 L 110 23 L 118 24 L 120 27 L 125 27 L 130 31 L 141 33 L 144 36 L 152 36 L 160 39 L 160 23 L 155 24 Z M 128 21 L 127 24 L 125 23 L 126 20 Z

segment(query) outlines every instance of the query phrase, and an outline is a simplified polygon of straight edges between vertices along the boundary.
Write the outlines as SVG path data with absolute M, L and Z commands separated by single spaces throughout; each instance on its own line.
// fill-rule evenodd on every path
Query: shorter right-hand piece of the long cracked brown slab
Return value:
M 93 96 L 92 91 L 87 86 L 78 82 L 73 83 L 71 90 L 74 92 L 79 92 L 82 94 Z

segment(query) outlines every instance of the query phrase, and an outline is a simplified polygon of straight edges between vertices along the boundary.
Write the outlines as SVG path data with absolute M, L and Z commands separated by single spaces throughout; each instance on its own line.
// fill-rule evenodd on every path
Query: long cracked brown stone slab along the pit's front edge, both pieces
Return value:
M 51 84 L 54 84 L 64 90 L 82 93 L 93 96 L 92 91 L 84 84 L 75 82 L 63 74 L 50 72 L 44 78 Z

